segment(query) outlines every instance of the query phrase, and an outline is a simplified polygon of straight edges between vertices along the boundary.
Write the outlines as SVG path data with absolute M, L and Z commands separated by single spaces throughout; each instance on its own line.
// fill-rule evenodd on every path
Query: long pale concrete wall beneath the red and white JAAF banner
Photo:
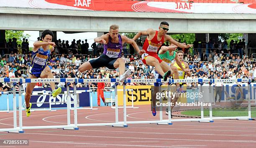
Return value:
M 256 33 L 256 20 L 163 19 L 125 17 L 82 17 L 0 13 L 2 30 L 45 30 L 108 32 L 118 24 L 120 32 L 158 29 L 161 21 L 169 22 L 174 33 Z

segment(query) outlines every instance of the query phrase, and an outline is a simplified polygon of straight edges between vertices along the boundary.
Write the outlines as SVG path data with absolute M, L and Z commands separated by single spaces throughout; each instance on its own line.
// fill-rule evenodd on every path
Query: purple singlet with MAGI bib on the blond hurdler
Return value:
M 108 57 L 117 58 L 121 57 L 121 52 L 123 50 L 123 42 L 121 35 L 118 34 L 118 43 L 112 43 L 111 37 L 109 36 L 108 44 L 104 44 L 104 52 L 103 54 Z

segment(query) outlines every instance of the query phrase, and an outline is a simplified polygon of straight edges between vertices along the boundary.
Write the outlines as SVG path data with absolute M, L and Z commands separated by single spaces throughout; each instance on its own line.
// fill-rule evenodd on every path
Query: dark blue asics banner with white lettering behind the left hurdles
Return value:
M 88 87 L 83 88 L 77 88 L 77 90 L 88 90 Z M 46 89 L 33 89 L 33 91 L 51 91 L 50 88 Z M 71 91 L 73 91 L 73 88 L 70 88 Z M 67 88 L 62 88 L 62 91 L 67 91 Z M 79 107 L 84 106 L 90 106 L 90 93 L 89 92 L 81 92 L 80 94 L 77 94 L 79 96 Z M 38 95 L 38 96 L 31 96 L 31 103 L 37 103 L 32 104 L 32 108 L 49 108 L 49 95 Z M 74 94 L 73 92 L 70 93 L 71 101 L 74 101 Z M 54 98 L 51 96 L 51 107 L 67 107 L 67 94 L 59 94 Z M 78 97 L 77 97 L 78 99 Z M 71 102 L 71 106 L 74 106 L 74 102 Z

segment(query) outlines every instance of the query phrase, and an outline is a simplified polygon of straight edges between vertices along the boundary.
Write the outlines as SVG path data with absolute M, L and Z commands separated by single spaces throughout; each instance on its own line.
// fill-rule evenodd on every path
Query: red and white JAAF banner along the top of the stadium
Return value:
M 132 0 L 1 0 L 0 7 L 170 13 L 252 13 L 251 3 L 145 2 Z

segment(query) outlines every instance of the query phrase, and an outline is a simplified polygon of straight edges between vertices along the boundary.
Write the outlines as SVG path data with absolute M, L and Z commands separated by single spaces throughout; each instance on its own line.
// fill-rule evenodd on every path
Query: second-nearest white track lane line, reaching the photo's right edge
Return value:
M 141 138 L 141 137 L 113 137 L 113 136 L 84 136 L 84 135 L 61 135 L 61 134 L 49 134 L 49 133 L 24 133 L 34 135 L 52 135 L 52 136 L 70 136 L 70 137 L 95 137 L 95 138 L 123 138 L 123 139 L 144 139 L 155 140 L 156 138 Z M 210 141 L 210 142 L 237 142 L 237 143 L 256 143 L 253 140 L 202 140 L 202 139 L 174 139 L 174 138 L 157 138 L 157 140 L 175 140 L 175 141 Z

